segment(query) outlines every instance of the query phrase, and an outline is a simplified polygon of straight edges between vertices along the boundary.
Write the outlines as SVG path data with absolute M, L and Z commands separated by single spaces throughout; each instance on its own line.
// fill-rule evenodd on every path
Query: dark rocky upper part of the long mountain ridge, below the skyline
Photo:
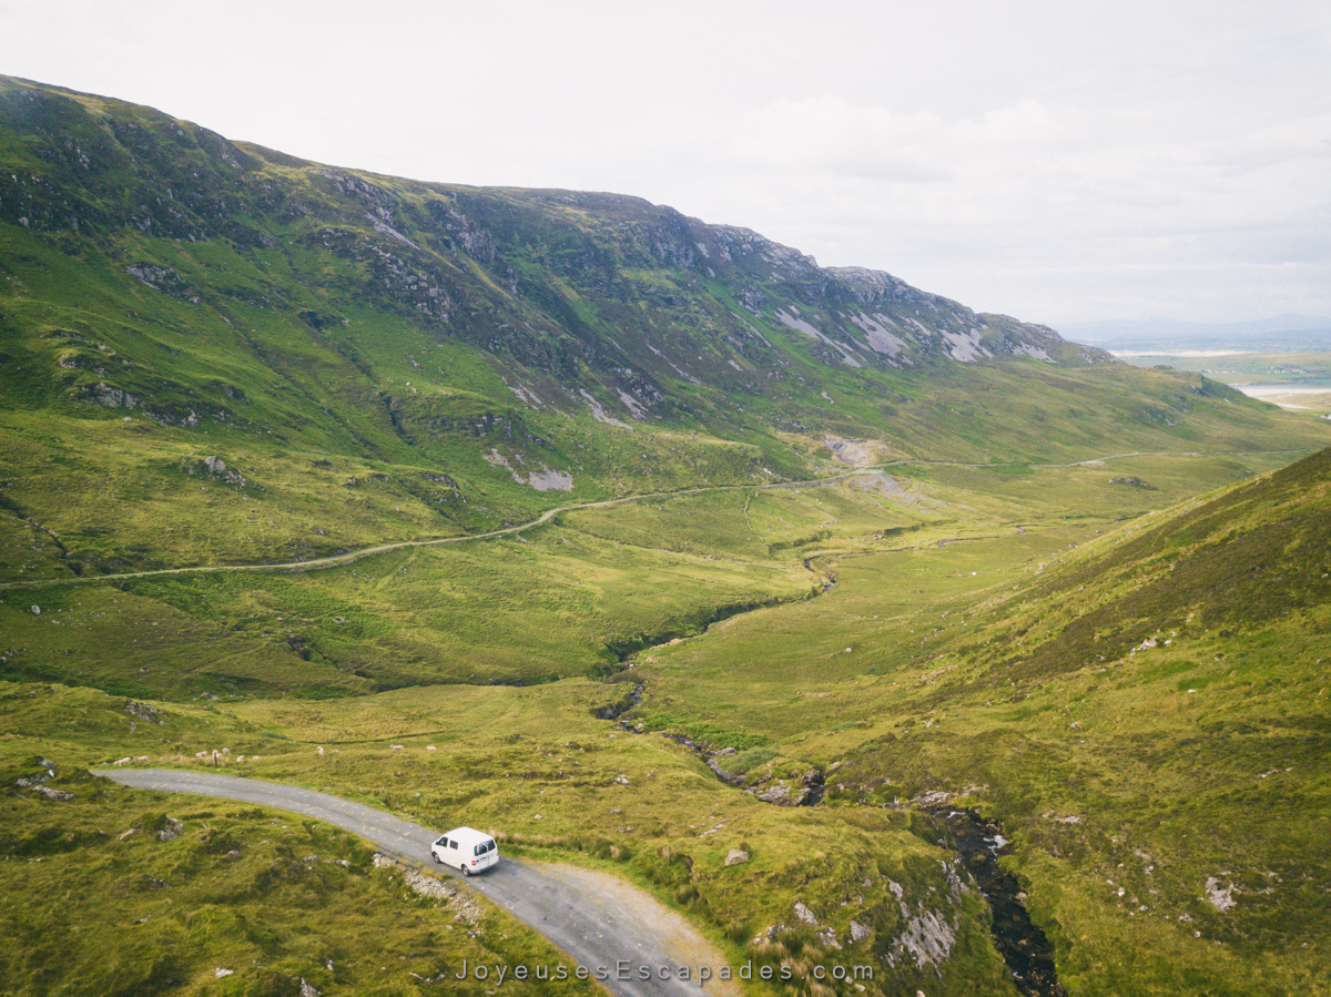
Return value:
M 343 317 L 310 314 L 273 284 L 220 288 L 162 244 L 331 257 L 354 272 L 353 298 L 502 357 L 526 407 L 584 407 L 590 391 L 631 421 L 668 417 L 680 383 L 780 397 L 791 362 L 764 333 L 773 323 L 817 363 L 852 370 L 1110 362 L 1046 327 L 976 314 L 886 273 L 824 269 L 642 198 L 374 177 L 17 80 L 0 88 L 0 126 L 11 134 L 0 218 L 33 237 L 91 242 L 125 276 L 220 314 L 276 307 L 315 327 Z M 293 277 L 317 288 L 309 270 Z M 114 379 L 75 393 L 101 403 L 138 394 Z

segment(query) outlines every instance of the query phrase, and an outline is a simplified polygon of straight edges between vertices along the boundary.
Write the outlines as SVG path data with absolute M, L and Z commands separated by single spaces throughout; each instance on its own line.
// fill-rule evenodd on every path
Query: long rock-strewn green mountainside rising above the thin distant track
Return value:
M 8 578 L 801 478 L 843 438 L 1061 463 L 1328 435 L 639 198 L 333 169 L 13 79 L 0 161 L 0 497 L 44 548 Z

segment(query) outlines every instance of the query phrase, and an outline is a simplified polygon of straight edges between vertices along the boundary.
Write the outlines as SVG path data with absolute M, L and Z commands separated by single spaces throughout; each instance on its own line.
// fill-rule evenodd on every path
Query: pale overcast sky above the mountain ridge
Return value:
M 0 72 L 1028 321 L 1331 315 L 1331 3 L 0 0 Z

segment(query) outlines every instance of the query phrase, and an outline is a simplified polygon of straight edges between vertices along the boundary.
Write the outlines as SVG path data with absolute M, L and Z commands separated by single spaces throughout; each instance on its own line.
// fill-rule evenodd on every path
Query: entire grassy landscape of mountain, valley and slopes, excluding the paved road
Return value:
M 964 804 L 1069 994 L 1331 986 L 1331 423 L 630 197 L 17 80 L 0 160 L 0 989 L 554 961 L 120 759 L 614 871 L 811 997 L 1018 993 Z

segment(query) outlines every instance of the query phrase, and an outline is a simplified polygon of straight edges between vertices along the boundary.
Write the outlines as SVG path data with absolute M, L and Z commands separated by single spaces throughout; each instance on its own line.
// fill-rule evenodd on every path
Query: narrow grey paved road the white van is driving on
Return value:
M 399 859 L 430 865 L 438 875 L 446 875 L 445 867 L 430 860 L 430 843 L 442 832 L 327 793 L 174 769 L 100 769 L 95 775 L 138 789 L 220 796 L 303 813 L 359 835 Z M 594 974 L 598 966 L 606 966 L 610 978 L 604 985 L 619 997 L 737 994 L 733 986 L 716 980 L 705 992 L 696 981 L 679 980 L 680 966 L 691 966 L 691 976 L 696 976 L 701 965 L 716 973 L 724 957 L 679 914 L 612 876 L 535 865 L 504 856 L 498 867 L 466 883 L 544 936 L 574 964 L 587 966 Z M 628 961 L 634 978 L 615 978 L 619 960 Z M 640 966 L 650 968 L 650 980 L 638 978 Z M 568 969 L 572 972 L 574 966 Z M 662 978 L 662 969 L 668 978 Z

